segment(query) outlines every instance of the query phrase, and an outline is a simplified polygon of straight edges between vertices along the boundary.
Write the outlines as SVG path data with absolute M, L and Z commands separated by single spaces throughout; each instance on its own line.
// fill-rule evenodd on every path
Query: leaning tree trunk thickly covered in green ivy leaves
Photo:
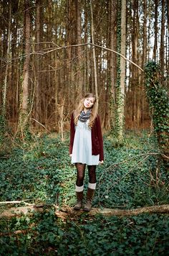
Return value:
M 169 98 L 162 85 L 163 73 L 154 61 L 145 65 L 145 90 L 152 110 L 154 130 L 163 152 L 169 156 Z

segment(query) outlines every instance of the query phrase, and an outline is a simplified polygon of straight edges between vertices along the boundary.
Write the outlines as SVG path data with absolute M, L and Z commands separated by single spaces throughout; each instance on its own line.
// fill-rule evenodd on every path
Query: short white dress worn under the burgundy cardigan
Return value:
M 72 150 L 72 163 L 98 165 L 100 155 L 92 155 L 92 134 L 87 122 L 78 120 L 75 127 L 74 143 Z

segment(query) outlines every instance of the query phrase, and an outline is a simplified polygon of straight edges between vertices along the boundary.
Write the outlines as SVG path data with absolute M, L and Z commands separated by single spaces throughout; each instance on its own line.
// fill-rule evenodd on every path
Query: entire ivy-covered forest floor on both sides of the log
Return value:
M 7 140 L 7 139 L 6 139 Z M 0 219 L 0 255 L 168 255 L 168 214 L 91 216 L 62 219 L 56 206 L 76 200 L 76 170 L 69 137 L 34 137 L 7 142 L 0 155 L 0 201 L 42 205 L 43 211 Z M 169 204 L 168 175 L 148 132 L 126 132 L 124 145 L 104 136 L 105 163 L 97 168 L 93 207 L 139 209 Z M 3 151 L 4 150 L 4 151 Z M 84 191 L 87 191 L 87 171 Z M 23 206 L 11 205 L 13 208 Z M 11 207 L 0 205 L 0 215 Z

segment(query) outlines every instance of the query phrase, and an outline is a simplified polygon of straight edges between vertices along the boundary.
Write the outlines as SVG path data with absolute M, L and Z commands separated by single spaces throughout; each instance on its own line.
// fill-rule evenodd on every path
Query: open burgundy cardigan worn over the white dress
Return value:
M 69 154 L 72 154 L 74 134 L 75 134 L 74 114 L 72 113 L 71 121 L 70 121 Z M 92 155 L 100 155 L 99 160 L 102 161 L 104 160 L 104 153 L 103 153 L 102 129 L 101 129 L 99 115 L 97 115 L 95 119 L 91 134 L 92 134 Z

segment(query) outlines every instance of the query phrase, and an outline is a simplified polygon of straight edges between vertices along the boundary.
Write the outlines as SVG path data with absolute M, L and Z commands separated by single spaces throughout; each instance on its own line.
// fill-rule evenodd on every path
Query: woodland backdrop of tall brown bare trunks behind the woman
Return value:
M 63 132 L 89 91 L 106 130 L 117 128 L 119 112 L 127 129 L 150 127 L 143 70 L 160 63 L 168 87 L 168 9 L 165 0 L 1 1 L 1 129 L 19 129 L 24 114 L 28 126 Z M 140 68 L 125 61 L 120 71 L 113 51 Z

